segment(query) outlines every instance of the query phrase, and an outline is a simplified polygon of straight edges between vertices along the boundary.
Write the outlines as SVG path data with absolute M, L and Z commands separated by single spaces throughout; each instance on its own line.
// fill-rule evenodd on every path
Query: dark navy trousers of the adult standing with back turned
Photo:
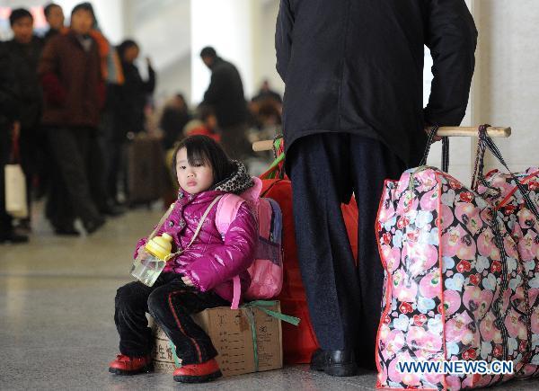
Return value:
M 296 140 L 287 154 L 296 244 L 314 332 L 324 350 L 355 349 L 359 364 L 375 362 L 384 270 L 375 221 L 384 179 L 404 165 L 371 138 L 321 133 Z M 358 202 L 358 266 L 340 211 Z

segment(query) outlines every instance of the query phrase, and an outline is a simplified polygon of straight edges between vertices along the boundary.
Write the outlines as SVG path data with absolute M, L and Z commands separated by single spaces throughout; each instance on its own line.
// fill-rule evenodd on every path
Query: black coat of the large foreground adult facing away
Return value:
M 477 40 L 464 0 L 281 0 L 275 40 L 287 149 L 349 132 L 384 141 L 412 166 L 426 123 L 464 117 Z M 434 60 L 424 110 L 423 45 Z

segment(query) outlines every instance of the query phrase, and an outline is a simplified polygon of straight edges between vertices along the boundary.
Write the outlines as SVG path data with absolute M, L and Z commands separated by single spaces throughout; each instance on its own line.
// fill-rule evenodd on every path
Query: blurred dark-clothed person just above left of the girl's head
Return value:
M 185 98 L 181 93 L 174 95 L 166 104 L 159 121 L 159 128 L 163 130 L 163 148 L 170 149 L 181 136 L 183 128 L 190 121 L 190 113 Z

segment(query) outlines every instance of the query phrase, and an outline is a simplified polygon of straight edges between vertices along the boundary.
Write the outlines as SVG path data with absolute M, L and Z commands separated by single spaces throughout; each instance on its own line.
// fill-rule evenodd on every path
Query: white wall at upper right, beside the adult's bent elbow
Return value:
M 513 129 L 510 138 L 495 140 L 513 171 L 537 166 L 539 2 L 475 0 L 474 6 L 481 51 L 474 120 Z

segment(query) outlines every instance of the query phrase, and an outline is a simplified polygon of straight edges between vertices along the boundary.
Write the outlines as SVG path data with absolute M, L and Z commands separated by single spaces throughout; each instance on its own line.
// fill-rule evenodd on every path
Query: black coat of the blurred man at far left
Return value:
M 34 36 L 29 44 L 9 40 L 4 45 L 15 77 L 15 83 L 12 84 L 13 91 L 20 103 L 15 113 L 16 120 L 21 121 L 22 129 L 34 129 L 39 124 L 43 106 L 43 95 L 38 78 L 38 64 L 43 41 Z

